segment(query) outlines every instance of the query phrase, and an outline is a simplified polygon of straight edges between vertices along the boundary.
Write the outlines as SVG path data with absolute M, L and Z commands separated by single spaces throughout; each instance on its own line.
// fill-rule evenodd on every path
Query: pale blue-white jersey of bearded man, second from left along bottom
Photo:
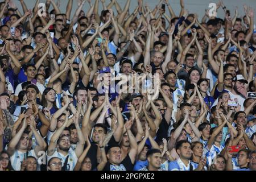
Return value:
M 68 155 L 69 155 L 69 157 L 68 157 L 67 168 L 69 169 L 69 171 L 73 171 L 73 169 L 75 168 L 76 163 L 77 163 L 77 156 L 76 156 L 75 151 L 73 151 L 72 148 L 69 148 Z M 55 150 L 53 155 L 51 155 L 51 156 L 46 155 L 46 156 L 47 156 L 47 161 L 49 161 L 51 158 L 55 158 L 55 157 L 60 158 L 61 162 L 62 162 L 62 167 L 63 167 L 64 163 L 65 163 L 65 159 L 67 158 L 68 155 L 64 156 L 63 154 L 61 154 L 60 152 Z

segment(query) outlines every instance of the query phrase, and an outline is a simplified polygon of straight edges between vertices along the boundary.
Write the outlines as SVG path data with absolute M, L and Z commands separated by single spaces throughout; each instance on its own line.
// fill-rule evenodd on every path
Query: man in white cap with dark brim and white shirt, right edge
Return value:
M 248 81 L 242 75 L 237 75 L 233 78 L 232 82 L 232 91 L 229 92 L 231 100 L 238 101 L 238 104 L 241 105 L 241 110 L 245 110 L 243 107 L 243 102 L 247 97 L 247 91 L 245 84 L 248 84 Z

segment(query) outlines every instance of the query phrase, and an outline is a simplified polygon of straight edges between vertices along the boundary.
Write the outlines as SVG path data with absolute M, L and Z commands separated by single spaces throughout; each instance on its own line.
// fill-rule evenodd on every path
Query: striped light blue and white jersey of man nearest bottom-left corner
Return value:
M 20 152 L 18 150 L 15 150 L 14 154 L 11 156 L 11 166 L 13 166 L 13 169 L 15 171 L 20 171 L 20 166 L 24 159 L 24 155 L 27 155 L 27 152 Z M 33 156 L 38 159 L 35 154 L 35 150 L 30 150 L 27 156 Z

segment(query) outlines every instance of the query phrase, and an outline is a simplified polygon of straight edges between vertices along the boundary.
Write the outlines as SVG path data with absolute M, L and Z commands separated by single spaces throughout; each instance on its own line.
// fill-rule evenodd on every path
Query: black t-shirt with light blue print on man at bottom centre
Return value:
M 119 165 L 106 163 L 104 171 L 133 171 L 134 164 L 131 162 L 130 156 L 127 155 Z

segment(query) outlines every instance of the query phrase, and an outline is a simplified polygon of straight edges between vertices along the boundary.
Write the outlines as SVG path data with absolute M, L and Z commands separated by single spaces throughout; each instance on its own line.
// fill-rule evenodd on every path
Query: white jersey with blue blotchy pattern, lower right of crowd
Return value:
M 205 156 L 207 158 L 207 164 L 208 166 L 213 164 L 213 160 L 214 158 L 216 158 L 216 156 L 218 154 L 220 154 L 220 152 L 225 148 L 224 145 L 221 145 L 220 147 L 216 146 L 215 144 L 212 145 L 212 147 L 208 148 L 208 146 L 206 145 L 204 148 L 204 152 L 203 152 L 203 156 Z

